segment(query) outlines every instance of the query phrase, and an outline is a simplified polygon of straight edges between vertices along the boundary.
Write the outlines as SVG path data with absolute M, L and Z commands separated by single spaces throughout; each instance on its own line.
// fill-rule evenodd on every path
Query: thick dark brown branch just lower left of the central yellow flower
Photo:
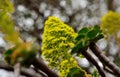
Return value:
M 59 77 L 56 73 L 51 71 L 41 59 L 35 58 L 32 64 L 34 65 L 34 67 L 39 68 L 44 73 L 46 73 L 49 77 Z

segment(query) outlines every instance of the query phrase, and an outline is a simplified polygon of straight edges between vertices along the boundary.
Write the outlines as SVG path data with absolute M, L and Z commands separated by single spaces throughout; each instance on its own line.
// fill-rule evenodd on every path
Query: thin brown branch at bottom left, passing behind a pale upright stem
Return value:
M 7 71 L 14 71 L 12 66 L 7 65 L 3 61 L 0 61 L 0 69 L 5 69 Z M 37 73 L 34 70 L 26 69 L 26 68 L 21 68 L 20 74 L 24 75 L 24 76 L 27 76 L 27 77 L 45 77 L 45 76 L 42 76 L 42 75 L 36 76 Z

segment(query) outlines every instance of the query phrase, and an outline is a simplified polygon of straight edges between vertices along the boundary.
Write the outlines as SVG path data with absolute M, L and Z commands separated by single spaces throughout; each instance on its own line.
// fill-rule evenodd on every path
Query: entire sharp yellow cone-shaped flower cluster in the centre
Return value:
M 52 69 L 58 69 L 60 77 L 66 77 L 70 68 L 78 67 L 76 60 L 68 52 L 74 46 L 76 36 L 71 27 L 54 16 L 45 22 L 42 55 Z

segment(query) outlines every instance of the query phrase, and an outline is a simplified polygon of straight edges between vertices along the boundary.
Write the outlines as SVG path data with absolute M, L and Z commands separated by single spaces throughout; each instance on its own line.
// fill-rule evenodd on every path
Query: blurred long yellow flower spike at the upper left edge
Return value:
M 13 4 L 10 0 L 0 0 L 0 30 L 5 34 L 5 38 L 14 44 L 19 42 L 18 32 L 14 29 L 11 13 L 14 12 Z

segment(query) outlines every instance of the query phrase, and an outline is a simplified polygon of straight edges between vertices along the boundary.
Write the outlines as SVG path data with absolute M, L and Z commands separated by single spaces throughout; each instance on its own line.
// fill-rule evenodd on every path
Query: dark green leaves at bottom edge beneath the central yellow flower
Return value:
M 86 77 L 85 72 L 80 68 L 71 68 L 67 77 Z

